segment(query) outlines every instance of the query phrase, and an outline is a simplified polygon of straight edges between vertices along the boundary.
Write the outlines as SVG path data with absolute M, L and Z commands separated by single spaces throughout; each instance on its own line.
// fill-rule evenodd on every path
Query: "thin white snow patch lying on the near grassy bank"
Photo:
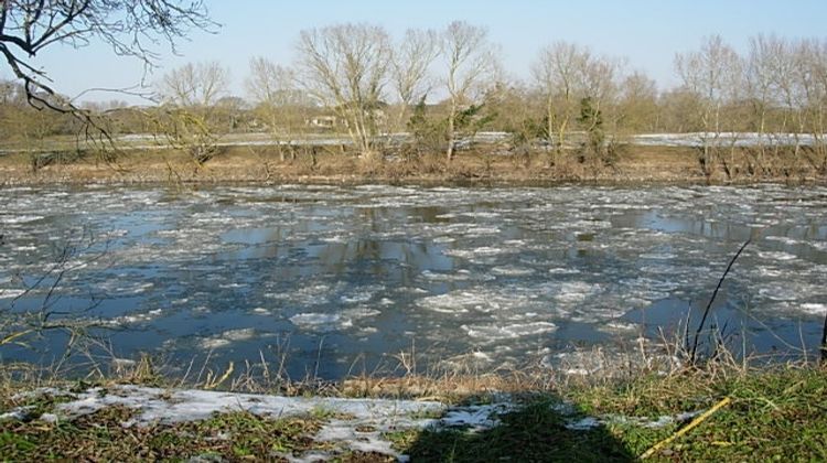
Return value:
M 211 418 L 215 413 L 246 411 L 273 419 L 312 416 L 320 410 L 334 417 L 313 435 L 320 442 L 340 448 L 378 452 L 404 460 L 385 438 L 390 431 L 407 429 L 443 430 L 450 428 L 491 429 L 500 424 L 498 416 L 515 409 L 511 400 L 491 405 L 447 407 L 432 400 L 344 399 L 325 397 L 281 397 L 204 390 L 169 390 L 132 385 L 107 389 L 92 388 L 71 395 L 73 400 L 55 406 L 58 417 L 74 419 L 108 407 L 127 407 L 136 413 L 123 427 L 174 424 Z M 428 418 L 440 417 L 441 418 Z M 3 413 L 0 419 L 25 419 L 25 410 Z M 301 461 L 330 457 L 321 453 L 298 455 Z M 291 457 L 294 457 L 291 455 Z

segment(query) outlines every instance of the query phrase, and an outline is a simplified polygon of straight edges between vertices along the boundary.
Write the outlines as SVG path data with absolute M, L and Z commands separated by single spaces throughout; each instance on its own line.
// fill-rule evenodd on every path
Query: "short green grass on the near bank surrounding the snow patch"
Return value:
M 308 452 L 333 452 L 329 456 L 334 461 L 394 461 L 386 454 L 336 450 L 330 442 L 315 440 L 314 433 L 334 418 L 322 412 L 283 419 L 229 412 L 195 422 L 123 427 L 121 423 L 136 410 L 109 408 L 73 420 L 54 420 L 43 413 L 65 399 L 14 396 L 20 387 L 8 380 L 2 384 L 0 413 L 31 407 L 25 420 L 0 420 L 0 459 L 6 461 L 174 461 L 195 456 L 211 461 L 280 460 Z M 490 391 L 477 390 L 453 400 L 485 402 L 491 397 Z M 496 417 L 501 423 L 492 429 L 426 428 L 389 432 L 385 438 L 415 462 L 472 462 L 481 457 L 633 461 L 676 435 L 697 419 L 697 412 L 728 398 L 726 406 L 686 434 L 658 446 L 651 459 L 827 459 L 827 372 L 813 365 L 684 369 L 666 376 L 651 373 L 623 381 L 526 389 L 513 397 L 517 407 Z

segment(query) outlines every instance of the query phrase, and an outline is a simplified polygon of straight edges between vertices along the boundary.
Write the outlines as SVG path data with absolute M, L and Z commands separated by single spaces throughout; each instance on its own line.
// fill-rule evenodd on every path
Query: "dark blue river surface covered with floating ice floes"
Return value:
M 698 320 L 750 237 L 713 323 L 759 351 L 812 348 L 827 311 L 824 187 L 55 187 L 0 202 L 0 306 L 86 230 L 56 308 L 99 299 L 84 316 L 123 326 L 119 355 L 278 345 L 291 375 L 337 377 L 415 343 L 520 365 Z

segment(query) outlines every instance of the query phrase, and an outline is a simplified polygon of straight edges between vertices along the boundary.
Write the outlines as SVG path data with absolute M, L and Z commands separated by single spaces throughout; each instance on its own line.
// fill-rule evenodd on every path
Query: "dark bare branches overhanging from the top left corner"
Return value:
M 0 54 L 37 108 L 71 112 L 92 122 L 88 112 L 58 98 L 45 69 L 31 58 L 63 44 L 82 47 L 108 44 L 115 54 L 143 62 L 158 57 L 158 42 L 175 41 L 192 29 L 214 26 L 201 0 L 4 0 L 0 2 Z

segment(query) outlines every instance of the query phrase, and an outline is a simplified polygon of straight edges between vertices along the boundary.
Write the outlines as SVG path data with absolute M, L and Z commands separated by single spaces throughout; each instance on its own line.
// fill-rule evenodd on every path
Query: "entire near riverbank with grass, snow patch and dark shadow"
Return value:
M 512 394 L 477 390 L 449 401 L 114 383 L 0 387 L 0 457 L 12 461 L 827 457 L 827 372 L 814 365 L 648 373 Z

